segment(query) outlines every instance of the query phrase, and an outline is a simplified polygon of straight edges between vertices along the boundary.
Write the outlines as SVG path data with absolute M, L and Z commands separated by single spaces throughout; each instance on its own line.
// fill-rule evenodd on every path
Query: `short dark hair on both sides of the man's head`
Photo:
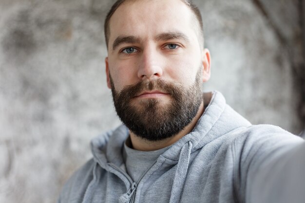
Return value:
M 108 12 L 106 19 L 105 19 L 105 23 L 104 23 L 104 34 L 105 34 L 105 40 L 106 40 L 106 45 L 108 48 L 108 43 L 109 43 L 109 36 L 110 36 L 110 31 L 109 31 L 109 21 L 110 18 L 112 17 L 112 15 L 114 14 L 114 12 L 116 11 L 116 9 L 126 0 L 116 0 L 115 3 L 113 4 L 113 6 L 111 7 L 110 11 Z M 202 21 L 202 17 L 200 14 L 200 10 L 198 9 L 198 7 L 193 4 L 190 0 L 182 0 L 187 6 L 190 7 L 191 11 L 193 12 L 193 14 L 195 15 L 195 17 L 197 18 L 198 22 L 199 22 L 199 26 L 200 26 L 200 35 L 203 38 L 203 21 Z

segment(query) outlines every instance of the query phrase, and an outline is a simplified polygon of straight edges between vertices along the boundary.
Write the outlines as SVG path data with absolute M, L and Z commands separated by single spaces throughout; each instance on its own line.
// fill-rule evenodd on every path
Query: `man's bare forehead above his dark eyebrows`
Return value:
M 196 32 L 196 20 L 181 0 L 127 0 L 114 12 L 109 43 L 118 36 L 153 37 L 163 32 Z

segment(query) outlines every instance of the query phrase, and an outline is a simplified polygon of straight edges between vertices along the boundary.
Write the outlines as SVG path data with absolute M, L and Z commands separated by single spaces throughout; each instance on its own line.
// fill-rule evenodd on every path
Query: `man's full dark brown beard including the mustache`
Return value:
M 202 95 L 202 68 L 199 69 L 195 82 L 184 88 L 177 82 L 162 79 L 139 81 L 116 92 L 110 76 L 114 107 L 120 120 L 136 136 L 148 141 L 160 141 L 170 138 L 191 123 L 196 116 Z M 158 98 L 133 98 L 144 91 L 158 90 L 170 95 L 170 101 Z

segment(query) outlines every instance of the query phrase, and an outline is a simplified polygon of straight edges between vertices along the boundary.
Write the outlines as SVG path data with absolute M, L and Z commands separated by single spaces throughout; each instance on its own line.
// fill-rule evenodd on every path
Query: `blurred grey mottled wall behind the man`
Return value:
M 55 202 L 90 158 L 90 139 L 119 125 L 104 74 L 112 2 L 0 0 L 1 203 Z M 195 2 L 212 55 L 205 89 L 223 92 L 253 124 L 299 133 L 303 1 Z

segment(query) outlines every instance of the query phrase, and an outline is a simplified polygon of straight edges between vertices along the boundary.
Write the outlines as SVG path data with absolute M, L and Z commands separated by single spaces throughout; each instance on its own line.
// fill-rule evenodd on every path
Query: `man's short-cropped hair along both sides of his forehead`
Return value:
M 127 0 L 116 0 L 105 18 L 104 35 L 105 35 L 107 50 L 109 47 L 110 19 L 114 15 L 115 11 L 126 1 Z M 189 9 L 191 10 L 191 13 L 193 14 L 193 18 L 196 19 L 196 22 L 197 22 L 196 29 L 198 29 L 197 33 L 198 33 L 199 43 L 200 43 L 200 46 L 203 46 L 203 44 L 204 44 L 203 22 L 202 22 L 202 17 L 201 17 L 201 13 L 200 13 L 199 9 L 190 0 L 180 0 L 180 1 L 182 1 L 189 7 Z

